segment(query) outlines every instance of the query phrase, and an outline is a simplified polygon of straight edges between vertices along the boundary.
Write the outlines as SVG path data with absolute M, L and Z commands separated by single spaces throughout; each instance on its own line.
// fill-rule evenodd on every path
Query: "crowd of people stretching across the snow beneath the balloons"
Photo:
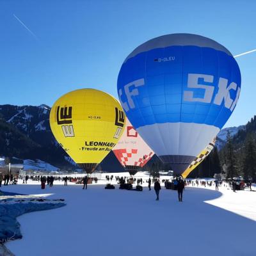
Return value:
M 17 184 L 18 178 L 22 180 L 23 184 L 27 184 L 28 180 L 31 179 L 33 181 L 38 181 L 41 184 L 41 188 L 45 189 L 45 184 L 49 186 L 49 188 L 52 188 L 54 181 L 58 180 L 59 182 L 64 182 L 64 186 L 68 185 L 68 182 L 75 182 L 76 184 L 83 184 L 83 189 L 87 189 L 87 185 L 91 184 L 93 182 L 97 183 L 98 178 L 97 177 L 89 177 L 88 175 L 85 175 L 84 177 L 71 177 L 71 176 L 53 176 L 53 175 L 13 175 L 12 173 L 8 174 L 2 174 L 0 173 L 0 187 L 2 186 L 2 183 L 4 186 L 8 186 L 8 184 Z M 114 179 L 113 175 L 106 175 L 105 179 L 108 182 L 111 182 Z M 120 186 L 127 184 L 132 185 L 136 184 L 137 186 L 142 186 L 144 182 L 147 183 L 148 190 L 151 190 L 152 184 L 154 184 L 154 190 L 156 192 L 156 200 L 159 200 L 159 193 L 161 190 L 161 182 L 164 184 L 164 187 L 166 189 L 174 189 L 177 190 L 178 193 L 178 199 L 179 202 L 182 202 L 182 196 L 183 191 L 185 189 L 185 186 L 203 186 L 204 188 L 206 186 L 215 186 L 216 191 L 219 190 L 219 187 L 227 187 L 230 189 L 233 189 L 234 192 L 236 192 L 237 189 L 244 190 L 244 188 L 249 188 L 250 191 L 252 191 L 252 181 L 244 182 L 243 180 L 203 180 L 203 179 L 182 179 L 182 177 L 174 177 L 173 179 L 158 179 L 158 178 L 151 178 L 149 177 L 146 180 L 143 180 L 139 177 L 119 177 L 115 176 L 115 180 Z M 142 189 L 141 189 L 142 190 Z

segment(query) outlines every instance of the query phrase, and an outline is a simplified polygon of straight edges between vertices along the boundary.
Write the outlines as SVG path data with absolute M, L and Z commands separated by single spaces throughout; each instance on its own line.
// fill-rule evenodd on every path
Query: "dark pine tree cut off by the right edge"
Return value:
M 252 134 L 246 136 L 244 158 L 243 158 L 244 179 L 256 180 L 256 146 Z

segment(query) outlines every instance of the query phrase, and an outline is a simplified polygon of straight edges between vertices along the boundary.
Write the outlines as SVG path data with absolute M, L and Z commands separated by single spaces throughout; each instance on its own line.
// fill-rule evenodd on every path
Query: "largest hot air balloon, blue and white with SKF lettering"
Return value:
M 117 83 L 127 118 L 176 174 L 227 122 L 240 88 L 232 54 L 191 34 L 159 36 L 140 45 L 125 59 Z

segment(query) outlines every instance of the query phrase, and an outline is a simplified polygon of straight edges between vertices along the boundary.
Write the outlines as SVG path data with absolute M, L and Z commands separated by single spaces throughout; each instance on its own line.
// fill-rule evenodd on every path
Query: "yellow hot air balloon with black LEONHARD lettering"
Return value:
M 108 93 L 81 89 L 54 103 L 50 125 L 67 154 L 87 173 L 92 173 L 122 136 L 125 114 L 120 103 Z

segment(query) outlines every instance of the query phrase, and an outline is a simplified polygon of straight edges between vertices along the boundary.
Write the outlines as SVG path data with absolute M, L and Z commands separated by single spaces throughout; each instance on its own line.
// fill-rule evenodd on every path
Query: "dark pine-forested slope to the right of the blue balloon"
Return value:
M 242 176 L 256 181 L 256 116 L 235 136 L 227 132 L 226 145 L 220 152 L 214 147 L 189 177 L 214 177 L 215 173 L 227 179 Z

